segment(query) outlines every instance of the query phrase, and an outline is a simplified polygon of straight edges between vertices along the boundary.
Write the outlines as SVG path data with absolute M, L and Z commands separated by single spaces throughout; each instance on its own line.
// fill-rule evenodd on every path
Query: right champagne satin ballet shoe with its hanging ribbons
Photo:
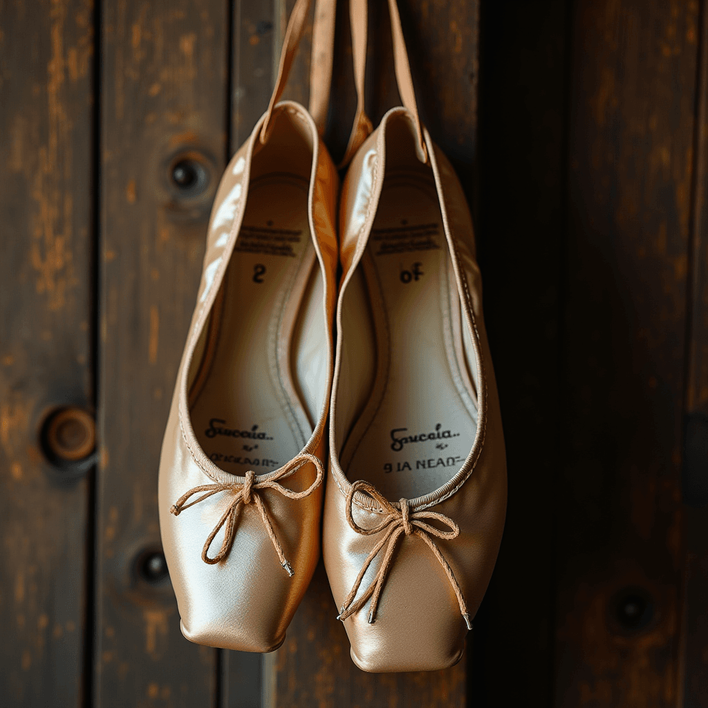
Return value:
M 362 136 L 365 0 L 350 7 Z M 389 8 L 404 107 L 348 151 L 323 525 L 351 656 L 375 672 L 459 661 L 506 514 L 472 219 L 418 119 L 395 0 Z

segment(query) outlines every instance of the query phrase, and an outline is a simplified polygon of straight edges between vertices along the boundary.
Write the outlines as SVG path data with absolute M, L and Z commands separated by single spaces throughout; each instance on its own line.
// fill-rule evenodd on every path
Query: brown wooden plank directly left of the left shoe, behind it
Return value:
M 209 706 L 216 651 L 179 629 L 160 548 L 162 435 L 227 152 L 227 4 L 126 0 L 102 14 L 101 387 L 95 705 Z M 201 193 L 170 178 L 178 160 Z

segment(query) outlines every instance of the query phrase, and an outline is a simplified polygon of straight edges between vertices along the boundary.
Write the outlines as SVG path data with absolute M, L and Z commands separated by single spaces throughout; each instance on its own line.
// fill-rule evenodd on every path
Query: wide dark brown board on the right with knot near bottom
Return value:
M 697 2 L 574 8 L 557 708 L 678 700 L 697 20 Z

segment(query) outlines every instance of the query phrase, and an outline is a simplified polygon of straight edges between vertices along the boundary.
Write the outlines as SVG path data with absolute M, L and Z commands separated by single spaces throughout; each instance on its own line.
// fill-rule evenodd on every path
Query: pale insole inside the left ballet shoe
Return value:
M 217 467 L 239 476 L 277 469 L 312 434 L 295 394 L 289 352 L 297 305 L 316 262 L 307 190 L 307 180 L 283 174 L 249 185 L 212 309 L 212 343 L 190 394 L 202 449 Z

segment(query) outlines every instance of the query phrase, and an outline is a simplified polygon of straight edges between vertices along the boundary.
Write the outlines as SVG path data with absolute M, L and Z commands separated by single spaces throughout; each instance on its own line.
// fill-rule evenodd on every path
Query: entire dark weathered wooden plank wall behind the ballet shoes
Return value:
M 273 654 L 179 631 L 161 435 L 211 200 L 292 0 L 0 0 L 3 706 L 708 706 L 708 7 L 399 6 L 474 212 L 508 446 L 467 658 L 361 672 L 321 567 Z M 335 157 L 346 3 L 337 22 Z M 370 33 L 376 122 L 398 103 L 384 3 Z

